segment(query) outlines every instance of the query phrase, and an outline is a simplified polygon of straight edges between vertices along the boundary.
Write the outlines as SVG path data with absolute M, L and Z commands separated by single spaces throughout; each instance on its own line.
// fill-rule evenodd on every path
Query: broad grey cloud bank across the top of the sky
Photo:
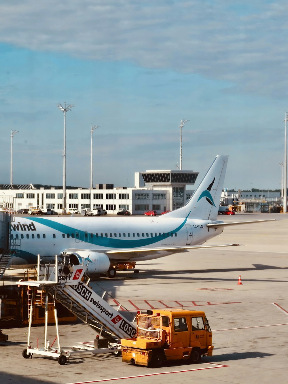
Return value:
M 26 0 L 2 4 L 0 41 L 225 80 L 283 97 L 288 4 L 233 0 Z

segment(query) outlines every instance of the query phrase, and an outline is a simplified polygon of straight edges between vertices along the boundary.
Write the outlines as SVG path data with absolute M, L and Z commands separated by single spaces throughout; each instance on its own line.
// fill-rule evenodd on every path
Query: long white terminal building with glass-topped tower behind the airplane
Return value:
M 66 188 L 66 212 L 70 209 L 103 207 L 108 214 L 119 208 L 134 215 L 147 210 L 161 214 L 182 207 L 189 200 L 199 172 L 192 170 L 147 170 L 135 173 L 135 186 L 114 187 L 113 184 L 96 184 L 94 188 Z M 63 188 L 34 187 L 33 184 L 0 184 L 0 209 L 17 211 L 38 207 L 63 213 Z

